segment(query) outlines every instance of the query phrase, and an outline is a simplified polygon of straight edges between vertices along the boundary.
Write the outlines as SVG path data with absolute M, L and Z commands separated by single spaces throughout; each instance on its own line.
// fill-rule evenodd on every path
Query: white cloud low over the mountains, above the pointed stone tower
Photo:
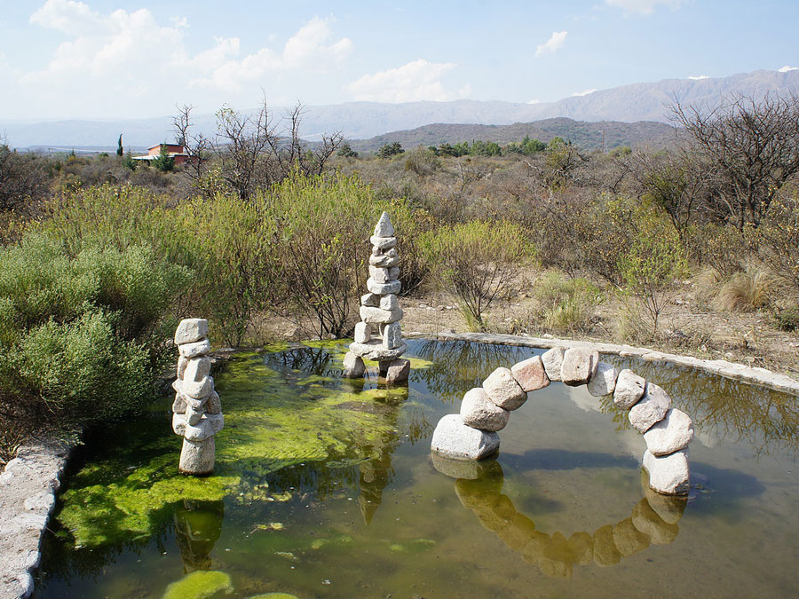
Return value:
M 402 67 L 363 75 L 346 85 L 344 90 L 353 99 L 371 102 L 416 102 L 436 100 L 439 102 L 463 98 L 471 93 L 469 85 L 456 93 L 447 91 L 439 80 L 455 67 L 452 62 L 428 62 L 424 59 L 408 62 Z

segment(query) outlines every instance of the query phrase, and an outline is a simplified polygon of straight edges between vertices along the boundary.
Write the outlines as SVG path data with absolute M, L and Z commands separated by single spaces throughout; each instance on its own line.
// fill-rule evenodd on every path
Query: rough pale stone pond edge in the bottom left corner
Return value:
M 0 473 L 0 598 L 28 597 L 76 439 L 34 437 Z

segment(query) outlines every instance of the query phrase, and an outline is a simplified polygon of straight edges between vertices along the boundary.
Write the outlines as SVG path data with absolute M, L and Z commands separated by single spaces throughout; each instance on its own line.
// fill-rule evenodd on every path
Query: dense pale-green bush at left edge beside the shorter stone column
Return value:
M 85 243 L 72 254 L 28 233 L 0 249 L 0 420 L 69 427 L 139 409 L 188 279 L 151 248 Z

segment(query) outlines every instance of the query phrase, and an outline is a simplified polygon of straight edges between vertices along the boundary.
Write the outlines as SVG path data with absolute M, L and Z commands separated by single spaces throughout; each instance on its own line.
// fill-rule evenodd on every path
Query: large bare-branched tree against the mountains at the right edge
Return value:
M 742 231 L 759 225 L 779 188 L 799 172 L 799 96 L 734 96 L 712 110 L 671 106 L 718 177 L 717 192 Z

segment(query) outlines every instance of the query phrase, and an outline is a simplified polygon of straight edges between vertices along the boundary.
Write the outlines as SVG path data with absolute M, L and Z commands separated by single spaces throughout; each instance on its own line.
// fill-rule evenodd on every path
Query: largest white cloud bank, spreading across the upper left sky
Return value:
M 47 0 L 30 22 L 58 31 L 67 41 L 46 66 L 20 77 L 22 89 L 38 94 L 44 106 L 55 99 L 75 106 L 90 99 L 98 114 L 118 114 L 123 101 L 128 106 L 136 98 L 153 102 L 188 85 L 229 98 L 273 73 L 329 72 L 352 52 L 352 41 L 336 39 L 330 20 L 319 17 L 307 21 L 282 48 L 261 47 L 245 56 L 238 37 L 216 37 L 205 50 L 188 51 L 186 18 L 172 17 L 162 24 L 147 9 L 102 13 L 76 0 Z M 109 93 L 119 105 L 108 101 Z M 79 112 L 86 110 L 83 106 Z

